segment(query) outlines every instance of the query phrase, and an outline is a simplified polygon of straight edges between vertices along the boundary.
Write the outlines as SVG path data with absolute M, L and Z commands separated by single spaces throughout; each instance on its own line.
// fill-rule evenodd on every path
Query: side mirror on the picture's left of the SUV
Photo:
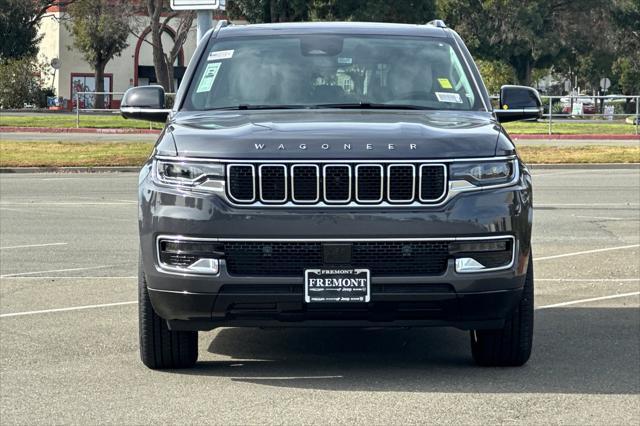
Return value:
M 164 107 L 162 86 L 132 87 L 125 92 L 120 103 L 120 114 L 124 118 L 164 123 L 170 112 Z

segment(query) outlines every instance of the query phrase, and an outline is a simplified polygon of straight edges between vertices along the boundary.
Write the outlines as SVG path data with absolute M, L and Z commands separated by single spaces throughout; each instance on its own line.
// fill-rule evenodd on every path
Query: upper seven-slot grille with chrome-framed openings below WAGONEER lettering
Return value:
M 447 194 L 447 165 L 230 164 L 227 191 L 236 204 L 429 204 Z

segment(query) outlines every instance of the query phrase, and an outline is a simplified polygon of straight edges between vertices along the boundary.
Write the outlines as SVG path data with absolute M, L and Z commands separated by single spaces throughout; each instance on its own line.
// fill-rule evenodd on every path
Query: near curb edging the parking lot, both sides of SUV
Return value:
M 636 170 L 640 163 L 561 163 L 561 164 L 529 164 L 531 170 L 546 169 L 608 169 Z M 0 174 L 20 173 L 138 173 L 142 166 L 117 167 L 0 167 Z

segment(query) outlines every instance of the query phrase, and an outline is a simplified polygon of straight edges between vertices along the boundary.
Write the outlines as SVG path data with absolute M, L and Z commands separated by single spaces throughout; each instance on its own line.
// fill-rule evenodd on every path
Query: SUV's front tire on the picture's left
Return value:
M 138 262 L 138 325 L 140 358 L 147 367 L 157 369 L 189 368 L 198 360 L 198 332 L 172 331 L 151 305 L 147 280 Z

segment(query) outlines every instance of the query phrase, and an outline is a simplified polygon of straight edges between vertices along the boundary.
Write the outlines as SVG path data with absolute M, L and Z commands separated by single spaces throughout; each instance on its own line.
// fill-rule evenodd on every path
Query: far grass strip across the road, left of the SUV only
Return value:
M 154 129 L 162 129 L 162 123 L 153 123 Z M 76 116 L 71 114 L 6 115 L 0 114 L 0 127 L 76 127 Z M 148 121 L 126 120 L 119 115 L 81 115 L 80 127 L 96 129 L 148 129 Z

